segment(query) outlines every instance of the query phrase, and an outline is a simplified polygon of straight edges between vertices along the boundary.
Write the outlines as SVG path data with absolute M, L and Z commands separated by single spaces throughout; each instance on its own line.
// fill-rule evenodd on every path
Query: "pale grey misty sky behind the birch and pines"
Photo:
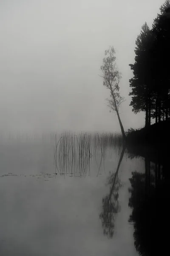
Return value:
M 127 128 L 144 125 L 131 111 L 128 64 L 137 35 L 151 28 L 164 0 L 0 0 L 0 132 L 120 131 L 109 113 L 100 66 L 116 50 L 120 110 Z

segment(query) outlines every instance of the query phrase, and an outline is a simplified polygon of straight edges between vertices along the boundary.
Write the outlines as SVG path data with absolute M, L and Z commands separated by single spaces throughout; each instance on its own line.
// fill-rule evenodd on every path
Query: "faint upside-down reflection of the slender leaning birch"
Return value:
M 115 217 L 116 214 L 120 211 L 118 198 L 121 183 L 118 177 L 118 172 L 124 153 L 125 146 L 123 146 L 122 148 L 116 172 L 112 173 L 108 179 L 108 185 L 110 185 L 110 192 L 108 195 L 102 198 L 102 212 L 100 213 L 99 218 L 102 221 L 103 233 L 104 235 L 108 236 L 108 238 L 113 237 L 115 228 Z

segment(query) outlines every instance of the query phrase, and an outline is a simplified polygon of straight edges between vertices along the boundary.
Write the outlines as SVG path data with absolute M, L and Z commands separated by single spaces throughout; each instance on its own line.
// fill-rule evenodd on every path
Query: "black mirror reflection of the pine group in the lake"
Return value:
M 129 157 L 139 157 L 140 147 L 130 148 Z M 166 149 L 141 148 L 145 172 L 133 170 L 130 178 L 129 222 L 134 225 L 134 244 L 139 255 L 166 255 L 169 241 L 170 174 Z

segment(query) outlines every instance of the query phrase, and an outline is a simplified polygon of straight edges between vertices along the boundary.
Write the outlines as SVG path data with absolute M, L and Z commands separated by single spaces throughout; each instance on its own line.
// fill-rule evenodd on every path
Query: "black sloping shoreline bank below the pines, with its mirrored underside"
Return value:
M 132 157 L 149 157 L 151 161 L 165 163 L 170 151 L 170 120 L 127 134 L 127 150 Z

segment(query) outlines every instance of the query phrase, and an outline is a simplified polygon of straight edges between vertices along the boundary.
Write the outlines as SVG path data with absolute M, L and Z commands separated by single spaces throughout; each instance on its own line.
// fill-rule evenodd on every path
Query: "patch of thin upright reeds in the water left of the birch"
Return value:
M 54 164 L 56 172 L 60 175 L 70 174 L 79 176 L 90 175 L 90 160 L 96 160 L 96 154 L 101 160 L 98 166 L 100 170 L 102 161 L 108 151 L 120 151 L 123 145 L 121 134 L 116 133 L 77 133 L 65 132 L 55 135 Z M 96 160 L 97 163 L 97 160 Z M 105 168 L 105 163 L 104 163 Z M 99 171 L 98 171 L 99 174 Z

